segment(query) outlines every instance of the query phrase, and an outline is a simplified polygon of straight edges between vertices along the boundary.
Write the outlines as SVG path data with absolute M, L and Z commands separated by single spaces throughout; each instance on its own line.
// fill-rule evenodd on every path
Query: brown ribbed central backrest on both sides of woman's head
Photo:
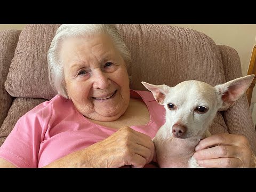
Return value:
M 12 97 L 51 99 L 46 53 L 59 25 L 27 25 L 21 32 L 5 82 Z M 188 79 L 225 83 L 221 54 L 213 40 L 198 31 L 166 25 L 117 25 L 131 50 L 131 89 L 141 81 L 174 86 Z M 35 72 L 37 71 L 37 72 Z

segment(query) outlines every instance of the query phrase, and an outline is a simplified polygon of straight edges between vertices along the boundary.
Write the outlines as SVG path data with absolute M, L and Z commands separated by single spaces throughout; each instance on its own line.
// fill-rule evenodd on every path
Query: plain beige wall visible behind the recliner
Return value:
M 216 44 L 233 47 L 241 59 L 243 76 L 247 74 L 252 47 L 255 42 L 255 24 L 166 24 L 187 27 L 208 35 Z M 0 24 L 0 30 L 23 29 L 25 24 Z M 253 91 L 252 102 L 256 102 L 256 87 Z

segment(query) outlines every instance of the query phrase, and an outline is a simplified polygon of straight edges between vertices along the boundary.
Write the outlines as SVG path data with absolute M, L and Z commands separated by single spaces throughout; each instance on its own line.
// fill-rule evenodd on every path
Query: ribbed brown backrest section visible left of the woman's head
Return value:
M 59 25 L 26 25 L 22 30 L 5 82 L 12 97 L 51 99 L 56 94 L 50 86 L 47 51 Z

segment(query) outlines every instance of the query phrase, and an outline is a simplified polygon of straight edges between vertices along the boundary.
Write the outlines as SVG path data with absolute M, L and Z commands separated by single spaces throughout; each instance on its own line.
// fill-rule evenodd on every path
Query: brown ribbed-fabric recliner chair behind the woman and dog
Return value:
M 46 53 L 59 25 L 27 25 L 22 31 L 0 31 L 0 145 L 17 120 L 50 100 Z M 198 31 L 166 25 L 117 25 L 130 48 L 131 89 L 145 90 L 141 81 L 174 86 L 195 79 L 211 85 L 241 77 L 237 52 L 216 45 Z M 256 154 L 256 133 L 246 95 L 219 112 L 210 132 L 245 135 Z

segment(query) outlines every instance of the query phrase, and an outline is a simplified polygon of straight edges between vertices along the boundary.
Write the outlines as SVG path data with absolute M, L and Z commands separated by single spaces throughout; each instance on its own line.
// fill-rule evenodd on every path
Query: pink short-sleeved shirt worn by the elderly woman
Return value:
M 137 94 L 138 93 L 138 94 Z M 130 90 L 131 98 L 142 98 L 150 121 L 132 129 L 153 138 L 165 122 L 165 109 L 149 91 Z M 92 123 L 73 102 L 60 95 L 23 115 L 0 147 L 0 157 L 17 167 L 42 167 L 113 134 L 116 129 Z

